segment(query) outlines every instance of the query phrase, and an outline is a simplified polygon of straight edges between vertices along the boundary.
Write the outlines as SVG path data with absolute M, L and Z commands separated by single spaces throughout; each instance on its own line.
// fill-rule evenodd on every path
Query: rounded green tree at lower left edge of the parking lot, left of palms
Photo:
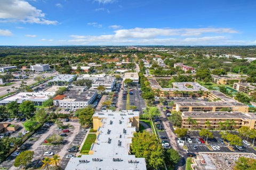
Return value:
M 33 156 L 34 156 L 34 151 L 25 150 L 16 157 L 13 165 L 15 167 L 24 166 L 26 169 L 28 164 L 32 162 Z

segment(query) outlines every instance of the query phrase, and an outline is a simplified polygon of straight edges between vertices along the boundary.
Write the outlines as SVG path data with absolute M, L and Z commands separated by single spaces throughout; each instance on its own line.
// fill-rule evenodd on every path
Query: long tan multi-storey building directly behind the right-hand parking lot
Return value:
M 209 128 L 223 129 L 225 122 L 229 121 L 227 129 L 239 129 L 242 126 L 247 126 L 250 129 L 256 129 L 256 115 L 254 113 L 242 112 L 182 112 L 182 128 Z M 197 124 L 189 122 L 196 120 Z M 206 125 L 206 122 L 209 125 Z M 222 127 L 220 126 L 222 122 Z M 226 128 L 226 127 L 225 127 Z

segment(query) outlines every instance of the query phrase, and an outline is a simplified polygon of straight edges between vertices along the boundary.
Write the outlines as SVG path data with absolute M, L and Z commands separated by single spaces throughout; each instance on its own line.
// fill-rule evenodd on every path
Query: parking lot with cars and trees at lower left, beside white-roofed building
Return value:
M 63 121 L 63 120 L 62 120 Z M 85 137 L 85 131 L 81 131 L 80 124 L 77 120 L 70 120 L 69 122 L 63 122 L 64 125 L 70 124 L 69 131 L 67 133 L 67 137 L 63 137 L 64 141 L 60 145 L 46 145 L 44 143 L 45 139 L 50 137 L 52 134 L 60 134 L 61 131 L 55 130 L 57 128 L 57 125 L 53 124 L 50 128 L 41 128 L 39 129 L 32 137 L 30 137 L 23 145 L 26 146 L 25 150 L 32 150 L 34 151 L 34 159 L 33 163 L 30 165 L 30 167 L 41 167 L 42 162 L 41 160 L 45 157 L 43 156 L 44 152 L 50 151 L 54 154 L 57 154 L 61 158 L 60 165 L 62 168 L 65 168 L 68 163 L 68 158 L 66 156 L 68 155 L 68 149 L 71 146 L 79 146 L 81 145 L 81 142 L 83 138 Z M 23 151 L 23 150 L 22 150 Z M 75 153 L 73 153 L 75 154 Z M 15 168 L 13 166 L 15 157 L 9 157 L 7 158 L 3 166 L 8 167 L 10 169 L 19 169 Z

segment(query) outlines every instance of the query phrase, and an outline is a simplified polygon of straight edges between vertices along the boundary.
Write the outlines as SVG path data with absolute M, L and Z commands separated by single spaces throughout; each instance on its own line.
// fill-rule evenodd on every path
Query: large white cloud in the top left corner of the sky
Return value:
M 39 24 L 57 24 L 57 21 L 45 19 L 45 13 L 38 10 L 22 0 L 1 0 L 0 5 L 0 21 L 1 22 L 25 22 Z

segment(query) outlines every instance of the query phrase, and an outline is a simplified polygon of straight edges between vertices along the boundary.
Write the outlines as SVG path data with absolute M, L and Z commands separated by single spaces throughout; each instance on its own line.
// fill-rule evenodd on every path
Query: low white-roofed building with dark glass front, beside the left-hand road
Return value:
M 71 82 L 76 80 L 76 75 L 73 74 L 60 74 L 57 77 L 54 77 L 52 80 L 48 81 L 48 84 L 53 86 L 67 86 Z

